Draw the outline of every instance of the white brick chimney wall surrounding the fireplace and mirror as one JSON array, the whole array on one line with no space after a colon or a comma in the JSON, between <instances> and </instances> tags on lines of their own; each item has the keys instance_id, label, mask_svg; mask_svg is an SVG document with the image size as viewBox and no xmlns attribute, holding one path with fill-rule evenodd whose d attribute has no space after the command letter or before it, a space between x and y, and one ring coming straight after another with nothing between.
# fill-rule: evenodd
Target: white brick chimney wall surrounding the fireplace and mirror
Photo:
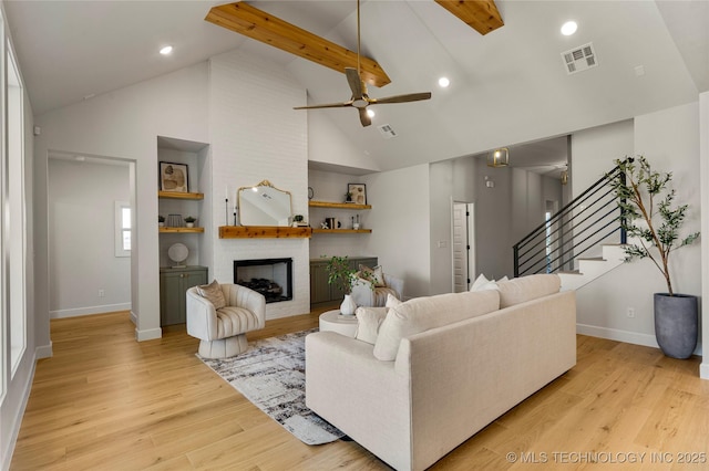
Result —
<instances>
[{"instance_id":1,"label":"white brick chimney wall surrounding the fireplace and mirror","mask_svg":"<svg viewBox=\"0 0 709 471\"><path fill-rule=\"evenodd\" d=\"M209 60L213 231L224 224L226 193L269 180L308 213L307 114L301 86L277 65L242 52ZM292 258L294 299L266 306L266 318L310 311L308 239L214 238L213 276L234 280L234 260Z\"/></svg>"}]
</instances>

